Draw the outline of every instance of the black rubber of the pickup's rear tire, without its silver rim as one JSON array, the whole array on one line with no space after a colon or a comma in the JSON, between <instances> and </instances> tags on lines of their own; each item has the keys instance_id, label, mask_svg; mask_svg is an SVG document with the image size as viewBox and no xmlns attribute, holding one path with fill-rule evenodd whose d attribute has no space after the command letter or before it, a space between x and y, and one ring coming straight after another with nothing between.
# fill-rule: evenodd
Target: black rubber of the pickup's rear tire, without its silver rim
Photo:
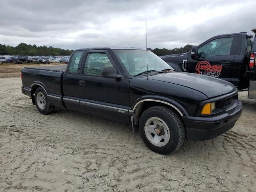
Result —
<instances>
[{"instance_id":1,"label":"black rubber of the pickup's rear tire, without its silver rim","mask_svg":"<svg viewBox=\"0 0 256 192\"><path fill-rule=\"evenodd\" d=\"M40 106L38 106L38 102L39 102L39 101L37 101L37 95L38 94L42 94L44 96L44 98L45 98L45 106L44 106L44 108L42 108L42 107L40 108ZM35 103L36 103L37 110L40 113L44 114L44 115L48 115L48 114L52 113L54 111L54 109L55 109L54 106L50 105L48 97L47 97L47 94L46 94L46 92L44 91L44 89L42 87L39 87L39 88L36 89L36 92L35 92Z\"/></svg>"}]
</instances>

